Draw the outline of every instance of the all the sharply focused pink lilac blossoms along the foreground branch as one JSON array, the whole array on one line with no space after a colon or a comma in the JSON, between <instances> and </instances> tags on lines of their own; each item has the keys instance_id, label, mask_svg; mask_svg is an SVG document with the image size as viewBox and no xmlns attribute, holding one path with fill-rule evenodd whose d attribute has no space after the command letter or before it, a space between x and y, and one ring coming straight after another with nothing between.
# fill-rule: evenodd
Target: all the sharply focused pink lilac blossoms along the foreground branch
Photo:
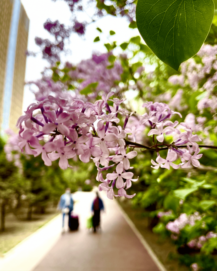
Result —
<instances>
[{"instance_id":1,"label":"all the sharply focused pink lilac blossoms along the foreground branch","mask_svg":"<svg viewBox=\"0 0 217 271\"><path fill-rule=\"evenodd\" d=\"M133 173L128 171L132 169L129 159L134 158L137 152L129 151L127 146L156 150L157 163L151 160L154 169L170 169L170 166L177 169L179 166L187 167L190 163L199 166L198 159L202 154L198 155L199 147L195 142L200 141L198 135L192 135L192 128L184 122L180 123L184 127L184 132L181 133L177 128L178 121L173 123L168 120L173 114L181 117L178 112L172 111L163 103L147 102L143 107L149 112L138 117L135 112L129 112L125 107L121 108L125 99L111 99L113 95L114 92L109 92L107 96L104 93L102 99L94 103L84 101L76 95L74 98L70 96L70 99L48 95L37 104L29 105L25 115L17 122L20 128L18 146L22 150L25 147L27 154L41 154L47 166L59 159L62 169L71 167L68 163L70 158L76 159L78 156L84 163L89 162L90 158L93 159L98 170L96 179L102 182L99 189L105 190L110 199L113 199L113 196L132 198L135 195L127 195L125 190L131 187L132 181L137 180L132 179ZM108 101L113 102L113 106L108 105ZM132 122L127 127L130 117ZM136 118L137 122L134 121ZM123 120L122 126L118 125L120 119ZM156 135L157 140L150 147L135 142L139 138L137 132L141 137L147 126L152 128L148 135L153 136L153 142ZM128 141L127 133L131 133L134 142ZM164 143L164 136L171 133L173 138L177 139L171 144ZM159 155L162 146L168 149L166 159ZM187 147L187 150L180 149L181 147ZM179 157L182 163L174 164ZM113 167L113 173L107 173L104 179L102 172ZM117 195L114 193L114 186L118 189Z\"/></svg>"}]
</instances>

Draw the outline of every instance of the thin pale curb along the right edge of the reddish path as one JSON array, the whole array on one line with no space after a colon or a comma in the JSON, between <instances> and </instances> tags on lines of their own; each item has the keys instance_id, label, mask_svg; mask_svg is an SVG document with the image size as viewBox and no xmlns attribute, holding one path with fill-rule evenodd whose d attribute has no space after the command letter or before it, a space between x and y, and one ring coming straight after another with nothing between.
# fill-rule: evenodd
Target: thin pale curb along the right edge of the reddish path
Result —
<instances>
[{"instance_id":1,"label":"thin pale curb along the right edge of the reddish path","mask_svg":"<svg viewBox=\"0 0 217 271\"><path fill-rule=\"evenodd\" d=\"M133 230L133 232L136 234L136 236L139 238L140 242L143 244L144 248L147 250L147 253L150 255L152 260L156 263L157 267L160 271L167 271L166 267L162 264L162 262L158 259L157 255L154 253L154 251L151 249L147 241L144 239L142 234L139 232L139 230L136 228L133 221L129 218L127 213L124 211L124 209L120 206L117 200L115 200L121 214L123 215L124 219L126 220L127 224L130 226L130 228Z\"/></svg>"}]
</instances>

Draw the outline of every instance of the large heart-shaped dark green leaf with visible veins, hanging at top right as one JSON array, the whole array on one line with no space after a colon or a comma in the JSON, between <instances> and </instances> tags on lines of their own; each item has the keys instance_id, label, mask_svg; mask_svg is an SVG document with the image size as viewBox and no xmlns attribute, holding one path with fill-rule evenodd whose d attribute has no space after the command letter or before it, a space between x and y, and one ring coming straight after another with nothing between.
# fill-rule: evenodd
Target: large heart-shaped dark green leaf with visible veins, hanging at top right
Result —
<instances>
[{"instance_id":1,"label":"large heart-shaped dark green leaf with visible veins, hanging at top right","mask_svg":"<svg viewBox=\"0 0 217 271\"><path fill-rule=\"evenodd\" d=\"M213 16L213 0L138 0L136 7L147 46L175 70L200 50Z\"/></svg>"}]
</instances>

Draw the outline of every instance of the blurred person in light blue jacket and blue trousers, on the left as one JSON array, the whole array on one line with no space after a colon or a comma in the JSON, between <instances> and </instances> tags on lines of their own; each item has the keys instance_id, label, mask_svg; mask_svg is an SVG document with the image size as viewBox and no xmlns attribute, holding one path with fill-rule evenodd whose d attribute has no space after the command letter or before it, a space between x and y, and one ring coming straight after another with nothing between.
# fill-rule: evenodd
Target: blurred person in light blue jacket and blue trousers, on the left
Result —
<instances>
[{"instance_id":1,"label":"blurred person in light blue jacket and blue trousers, on the left","mask_svg":"<svg viewBox=\"0 0 217 271\"><path fill-rule=\"evenodd\" d=\"M58 204L58 208L61 209L62 214L63 214L63 222L62 222L62 232L64 232L64 219L65 219L65 214L68 214L69 220L70 220L70 215L73 210L73 198L71 194L71 189L66 188L65 193L61 195L60 201Z\"/></svg>"}]
</instances>

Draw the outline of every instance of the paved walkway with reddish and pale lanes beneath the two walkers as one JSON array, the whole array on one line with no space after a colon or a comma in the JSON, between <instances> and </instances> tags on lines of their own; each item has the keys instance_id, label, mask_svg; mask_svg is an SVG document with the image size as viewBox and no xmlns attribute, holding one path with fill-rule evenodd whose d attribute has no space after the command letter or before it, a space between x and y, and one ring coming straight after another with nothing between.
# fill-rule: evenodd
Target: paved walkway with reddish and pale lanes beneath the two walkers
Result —
<instances>
[{"instance_id":1,"label":"paved walkway with reddish and pale lanes beneath the two walkers","mask_svg":"<svg viewBox=\"0 0 217 271\"><path fill-rule=\"evenodd\" d=\"M76 192L74 213L79 230L61 235L61 215L31 235L0 260L0 270L154 271L165 270L127 223L116 201L100 193L105 205L101 233L86 229L95 193ZM126 216L126 215L125 215ZM65 221L67 224L67 221ZM67 226L67 225L66 225ZM145 241L144 241L145 242ZM144 243L143 242L143 243Z\"/></svg>"}]
</instances>

